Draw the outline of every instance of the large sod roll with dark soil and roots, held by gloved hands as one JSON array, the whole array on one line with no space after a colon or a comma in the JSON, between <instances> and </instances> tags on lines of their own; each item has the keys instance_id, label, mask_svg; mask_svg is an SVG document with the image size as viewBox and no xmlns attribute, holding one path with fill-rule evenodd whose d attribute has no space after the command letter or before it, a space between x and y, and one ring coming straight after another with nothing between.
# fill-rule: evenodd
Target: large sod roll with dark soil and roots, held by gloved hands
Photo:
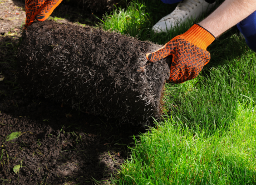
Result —
<instances>
[{"instance_id":1,"label":"large sod roll with dark soil and roots, held by gloved hands","mask_svg":"<svg viewBox=\"0 0 256 185\"><path fill-rule=\"evenodd\" d=\"M25 93L44 96L119 122L160 119L169 59L145 54L161 45L101 29L35 22L23 32L17 79Z\"/></svg>"}]
</instances>

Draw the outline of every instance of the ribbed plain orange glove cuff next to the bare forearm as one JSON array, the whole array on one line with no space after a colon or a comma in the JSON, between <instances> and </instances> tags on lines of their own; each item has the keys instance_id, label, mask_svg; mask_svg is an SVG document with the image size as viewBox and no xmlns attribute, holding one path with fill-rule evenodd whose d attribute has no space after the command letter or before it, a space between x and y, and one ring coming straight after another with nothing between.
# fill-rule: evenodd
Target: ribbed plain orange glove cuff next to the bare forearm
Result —
<instances>
[{"instance_id":1,"label":"ribbed plain orange glove cuff next to the bare forearm","mask_svg":"<svg viewBox=\"0 0 256 185\"><path fill-rule=\"evenodd\" d=\"M215 40L214 35L199 24L194 24L193 27L184 34L179 35L179 37L204 50Z\"/></svg>"}]
</instances>

